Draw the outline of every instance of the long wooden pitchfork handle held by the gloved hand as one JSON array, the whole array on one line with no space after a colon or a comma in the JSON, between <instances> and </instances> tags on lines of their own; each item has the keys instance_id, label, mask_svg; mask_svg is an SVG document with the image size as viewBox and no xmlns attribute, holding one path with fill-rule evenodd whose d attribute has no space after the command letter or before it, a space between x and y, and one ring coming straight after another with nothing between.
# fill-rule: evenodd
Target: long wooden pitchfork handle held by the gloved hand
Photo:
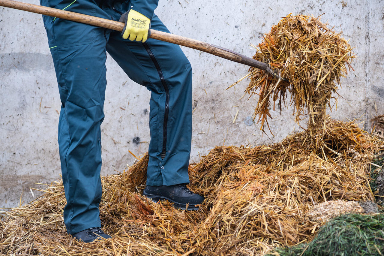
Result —
<instances>
[{"instance_id":1,"label":"long wooden pitchfork handle held by the gloved hand","mask_svg":"<svg viewBox=\"0 0 384 256\"><path fill-rule=\"evenodd\" d=\"M122 32L125 25L122 22L117 22L114 20L108 20L108 19L94 17L94 16L85 15L81 13L69 12L65 10L45 7L41 5L34 5L31 3L23 3L23 2L18 2L14 0L0 0L0 6L14 8L18 10L27 11L27 12L40 13L43 15L51 16L51 17L57 17L65 20L72 20L75 22L86 23L89 25L109 28L112 30L120 31L120 32ZM264 70L270 73L273 77L277 79L280 78L280 74L273 71L267 63L259 62L247 56L241 55L240 53L236 53L216 45L211 45L210 43L204 43L199 40L194 40L191 38L182 37L179 35L174 35L174 34L153 30L153 29L151 29L150 38L154 38L154 39L169 42L169 43L175 43L177 45L193 48L202 52L207 52L207 53L216 55L218 57L225 58L227 60L232 60L233 62L242 63L248 66L252 66L254 68Z\"/></svg>"}]
</instances>

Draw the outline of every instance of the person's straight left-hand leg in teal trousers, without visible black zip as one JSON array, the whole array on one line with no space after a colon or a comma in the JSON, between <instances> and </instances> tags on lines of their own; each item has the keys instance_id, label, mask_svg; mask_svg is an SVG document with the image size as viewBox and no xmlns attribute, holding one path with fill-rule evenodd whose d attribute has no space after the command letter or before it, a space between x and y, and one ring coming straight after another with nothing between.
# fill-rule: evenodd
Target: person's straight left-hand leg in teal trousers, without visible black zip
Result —
<instances>
[{"instance_id":1,"label":"person's straight left-hand leg in teal trousers, without visible black zip","mask_svg":"<svg viewBox=\"0 0 384 256\"><path fill-rule=\"evenodd\" d=\"M95 15L94 2L41 0L42 5ZM72 3L72 4L71 4ZM58 143L68 233L100 227L101 132L106 87L103 28L43 16L58 80Z\"/></svg>"}]
</instances>

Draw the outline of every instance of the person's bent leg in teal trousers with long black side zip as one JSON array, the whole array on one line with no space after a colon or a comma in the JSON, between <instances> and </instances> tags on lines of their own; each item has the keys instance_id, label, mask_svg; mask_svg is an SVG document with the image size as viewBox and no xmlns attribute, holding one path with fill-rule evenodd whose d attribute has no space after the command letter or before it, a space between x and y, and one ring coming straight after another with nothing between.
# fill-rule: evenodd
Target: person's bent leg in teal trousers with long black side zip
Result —
<instances>
[{"instance_id":1,"label":"person's bent leg in teal trousers with long black side zip","mask_svg":"<svg viewBox=\"0 0 384 256\"><path fill-rule=\"evenodd\" d=\"M114 7L124 9L120 4ZM152 18L152 28L169 32L156 15ZM189 183L192 133L189 61L178 45L151 38L145 43L132 42L124 40L119 32L111 33L107 51L132 80L151 91L147 185Z\"/></svg>"}]
</instances>

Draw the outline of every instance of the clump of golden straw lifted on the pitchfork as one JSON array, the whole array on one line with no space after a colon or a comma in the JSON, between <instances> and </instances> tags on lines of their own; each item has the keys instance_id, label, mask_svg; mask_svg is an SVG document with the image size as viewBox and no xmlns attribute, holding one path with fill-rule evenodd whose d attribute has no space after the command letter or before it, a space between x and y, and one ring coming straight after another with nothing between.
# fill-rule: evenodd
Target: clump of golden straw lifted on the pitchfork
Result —
<instances>
[{"instance_id":1,"label":"clump of golden straw lifted on the pitchfork","mask_svg":"<svg viewBox=\"0 0 384 256\"><path fill-rule=\"evenodd\" d=\"M264 131L265 124L268 126L271 101L273 110L278 99L283 108L288 92L295 107L296 122L302 115L309 115L311 131L323 127L326 108L331 107L332 93L338 88L335 83L340 84L340 77L347 74L346 66L352 68L350 62L354 58L351 46L341 33L320 22L319 17L288 15L264 34L262 43L255 48L255 60L270 63L281 78L288 80L250 68L251 81L245 91L259 98L253 119L258 116L260 130Z\"/></svg>"}]
</instances>

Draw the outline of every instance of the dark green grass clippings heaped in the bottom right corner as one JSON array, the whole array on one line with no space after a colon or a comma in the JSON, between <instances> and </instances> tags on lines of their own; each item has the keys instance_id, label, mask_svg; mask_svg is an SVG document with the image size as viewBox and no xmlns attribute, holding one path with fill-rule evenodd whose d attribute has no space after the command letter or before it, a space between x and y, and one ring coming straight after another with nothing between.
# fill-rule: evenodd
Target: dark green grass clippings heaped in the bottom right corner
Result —
<instances>
[{"instance_id":1,"label":"dark green grass clippings heaped in the bottom right corner","mask_svg":"<svg viewBox=\"0 0 384 256\"><path fill-rule=\"evenodd\" d=\"M339 216L322 226L310 243L276 248L266 255L384 255L384 214Z\"/></svg>"}]
</instances>

